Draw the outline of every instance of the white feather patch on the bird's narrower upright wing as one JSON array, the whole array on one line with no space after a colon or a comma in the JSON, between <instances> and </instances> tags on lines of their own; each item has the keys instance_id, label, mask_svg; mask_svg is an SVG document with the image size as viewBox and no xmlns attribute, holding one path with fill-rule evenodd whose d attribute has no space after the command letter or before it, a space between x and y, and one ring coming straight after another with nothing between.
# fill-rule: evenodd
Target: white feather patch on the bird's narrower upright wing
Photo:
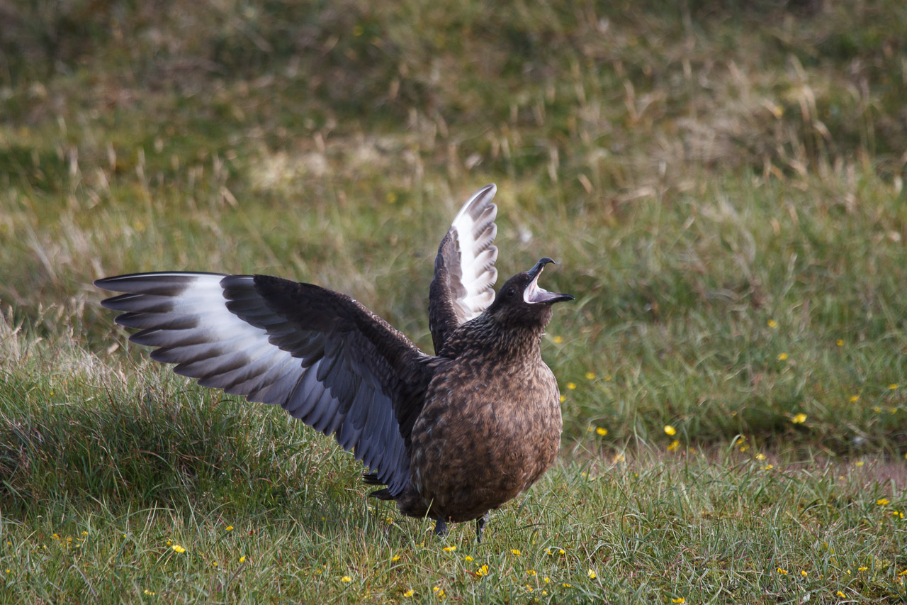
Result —
<instances>
[{"instance_id":1,"label":"white feather patch on the bird's narrower upright wing","mask_svg":"<svg viewBox=\"0 0 907 605\"><path fill-rule=\"evenodd\" d=\"M469 198L460 212L453 218L451 232L457 251L460 253L459 278L463 291L453 303L462 322L468 322L480 315L494 300L494 283L498 279L498 270L494 262L498 258L498 248L493 245L498 227L494 219L498 207L492 203L495 185L483 187ZM459 288L452 288L458 292Z\"/></svg>"}]
</instances>

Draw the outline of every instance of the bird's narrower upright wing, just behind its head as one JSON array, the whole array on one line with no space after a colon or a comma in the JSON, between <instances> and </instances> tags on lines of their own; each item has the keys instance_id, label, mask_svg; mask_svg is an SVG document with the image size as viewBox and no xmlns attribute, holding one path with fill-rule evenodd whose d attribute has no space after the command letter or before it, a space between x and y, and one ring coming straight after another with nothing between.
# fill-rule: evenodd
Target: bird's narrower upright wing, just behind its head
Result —
<instances>
[{"instance_id":1,"label":"bird's narrower upright wing, just behind its head","mask_svg":"<svg viewBox=\"0 0 907 605\"><path fill-rule=\"evenodd\" d=\"M494 300L498 248L492 203L497 187L485 185L463 204L438 246L434 280L429 291L428 323L434 351L441 351L447 335L463 322L481 314Z\"/></svg>"}]
</instances>

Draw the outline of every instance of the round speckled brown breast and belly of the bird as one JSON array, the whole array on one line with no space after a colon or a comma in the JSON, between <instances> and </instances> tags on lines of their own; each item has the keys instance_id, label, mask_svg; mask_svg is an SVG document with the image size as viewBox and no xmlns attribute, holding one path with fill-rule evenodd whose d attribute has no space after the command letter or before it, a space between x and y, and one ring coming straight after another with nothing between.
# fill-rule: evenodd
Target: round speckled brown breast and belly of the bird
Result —
<instances>
[{"instance_id":1,"label":"round speckled brown breast and belly of the bird","mask_svg":"<svg viewBox=\"0 0 907 605\"><path fill-rule=\"evenodd\" d=\"M541 359L493 374L452 362L435 375L426 401L413 429L410 476L430 517L477 519L529 488L557 456L560 396Z\"/></svg>"}]
</instances>

